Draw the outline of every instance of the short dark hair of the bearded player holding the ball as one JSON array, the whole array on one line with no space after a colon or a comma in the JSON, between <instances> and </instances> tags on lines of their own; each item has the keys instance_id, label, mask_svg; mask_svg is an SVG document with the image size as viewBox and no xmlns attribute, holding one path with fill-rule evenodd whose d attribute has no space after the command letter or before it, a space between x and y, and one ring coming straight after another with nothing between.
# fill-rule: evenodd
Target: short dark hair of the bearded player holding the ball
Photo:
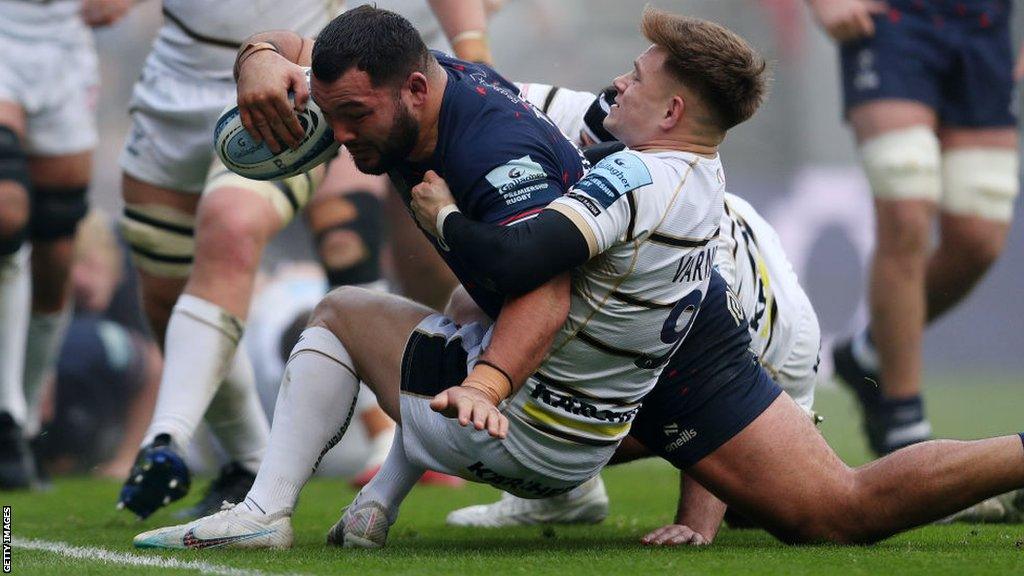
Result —
<instances>
[{"instance_id":1,"label":"short dark hair of the bearded player holding the ball","mask_svg":"<svg viewBox=\"0 0 1024 576\"><path fill-rule=\"evenodd\" d=\"M402 82L426 72L430 52L413 25L400 15L369 4L331 20L313 43L312 72L334 82L353 66L375 86Z\"/></svg>"}]
</instances>

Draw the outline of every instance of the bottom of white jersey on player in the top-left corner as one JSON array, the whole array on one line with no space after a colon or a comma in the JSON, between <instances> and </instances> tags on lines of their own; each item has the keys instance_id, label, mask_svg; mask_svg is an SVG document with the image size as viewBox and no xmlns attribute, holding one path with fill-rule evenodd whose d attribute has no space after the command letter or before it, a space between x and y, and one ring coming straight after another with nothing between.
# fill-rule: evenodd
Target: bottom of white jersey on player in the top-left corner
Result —
<instances>
[{"instance_id":1,"label":"bottom of white jersey on player in the top-left corner","mask_svg":"<svg viewBox=\"0 0 1024 576\"><path fill-rule=\"evenodd\" d=\"M81 9L80 0L0 0L0 36L77 43L89 34Z\"/></svg>"}]
</instances>

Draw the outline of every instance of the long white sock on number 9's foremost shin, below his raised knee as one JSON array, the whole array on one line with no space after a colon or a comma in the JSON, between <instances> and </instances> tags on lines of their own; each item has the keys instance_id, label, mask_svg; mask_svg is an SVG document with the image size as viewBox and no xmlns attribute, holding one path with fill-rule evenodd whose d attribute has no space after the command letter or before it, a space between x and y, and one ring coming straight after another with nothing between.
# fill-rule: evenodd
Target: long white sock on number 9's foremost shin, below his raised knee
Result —
<instances>
[{"instance_id":1,"label":"long white sock on number 9's foremost shin, below his raised knee","mask_svg":"<svg viewBox=\"0 0 1024 576\"><path fill-rule=\"evenodd\" d=\"M302 331L285 366L266 456L245 500L250 509L295 507L299 491L352 420L359 393L353 366L330 330Z\"/></svg>"}]
</instances>

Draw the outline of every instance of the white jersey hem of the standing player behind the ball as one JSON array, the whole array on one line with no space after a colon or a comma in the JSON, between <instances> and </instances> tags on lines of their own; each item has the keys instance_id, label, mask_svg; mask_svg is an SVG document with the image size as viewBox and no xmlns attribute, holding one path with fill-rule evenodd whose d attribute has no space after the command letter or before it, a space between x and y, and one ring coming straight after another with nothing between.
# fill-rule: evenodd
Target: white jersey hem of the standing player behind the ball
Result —
<instances>
[{"instance_id":1,"label":"white jersey hem of the standing player behind the ball","mask_svg":"<svg viewBox=\"0 0 1024 576\"><path fill-rule=\"evenodd\" d=\"M342 11L341 0L164 0L164 26L147 66L193 78L230 80L242 42L257 32L314 37Z\"/></svg>"}]
</instances>

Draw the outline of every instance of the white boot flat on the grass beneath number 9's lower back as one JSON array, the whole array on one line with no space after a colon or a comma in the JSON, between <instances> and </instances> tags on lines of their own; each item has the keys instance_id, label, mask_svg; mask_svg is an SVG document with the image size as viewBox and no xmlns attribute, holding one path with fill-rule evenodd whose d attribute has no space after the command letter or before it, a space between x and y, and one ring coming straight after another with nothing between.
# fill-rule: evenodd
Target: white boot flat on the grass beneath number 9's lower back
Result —
<instances>
[{"instance_id":1,"label":"white boot flat on the grass beneath number 9's lower back","mask_svg":"<svg viewBox=\"0 0 1024 576\"><path fill-rule=\"evenodd\" d=\"M528 500L511 494L493 504L460 508L447 516L452 526L497 528L535 524L599 524L608 517L608 493L596 476L572 490L551 498Z\"/></svg>"}]
</instances>

